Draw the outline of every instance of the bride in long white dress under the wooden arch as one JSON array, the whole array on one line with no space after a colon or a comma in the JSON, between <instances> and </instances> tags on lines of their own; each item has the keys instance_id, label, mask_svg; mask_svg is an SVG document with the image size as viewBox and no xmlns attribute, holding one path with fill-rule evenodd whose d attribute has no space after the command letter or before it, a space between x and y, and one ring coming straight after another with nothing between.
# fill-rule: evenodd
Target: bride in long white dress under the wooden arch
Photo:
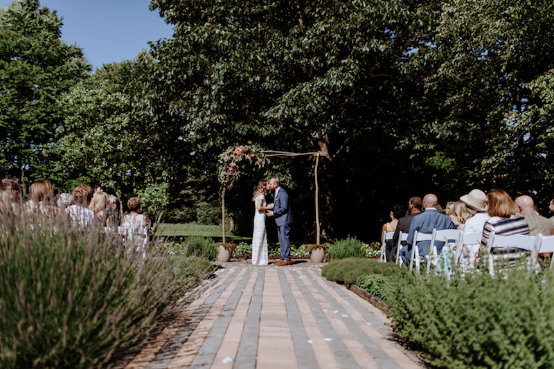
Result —
<instances>
[{"instance_id":1,"label":"bride in long white dress under the wooden arch","mask_svg":"<svg viewBox=\"0 0 554 369\"><path fill-rule=\"evenodd\" d=\"M252 233L252 265L267 265L267 231L265 230L265 210L274 208L274 204L265 202L265 192L268 190L267 181L258 182L258 189L254 192L254 231Z\"/></svg>"}]
</instances>

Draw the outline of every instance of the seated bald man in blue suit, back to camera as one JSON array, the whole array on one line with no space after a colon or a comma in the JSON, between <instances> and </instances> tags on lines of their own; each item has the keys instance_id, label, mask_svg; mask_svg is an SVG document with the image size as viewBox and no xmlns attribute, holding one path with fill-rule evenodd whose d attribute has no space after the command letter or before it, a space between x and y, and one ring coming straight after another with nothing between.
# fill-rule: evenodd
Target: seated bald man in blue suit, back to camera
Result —
<instances>
[{"instance_id":1,"label":"seated bald man in blue suit, back to camera","mask_svg":"<svg viewBox=\"0 0 554 369\"><path fill-rule=\"evenodd\" d=\"M452 219L443 213L439 213L436 209L438 199L436 195L429 193L423 198L423 213L414 217L410 224L410 231L408 233L408 240L406 240L406 246L400 250L400 257L404 264L408 264L408 259L411 256L411 249L415 242L413 240L415 231L418 233L432 233L434 229L440 231L442 229L456 229L458 226L452 222ZM430 241L419 241L418 248L420 250L420 258L425 258L429 255ZM438 253L443 249L444 242L436 242Z\"/></svg>"}]
</instances>

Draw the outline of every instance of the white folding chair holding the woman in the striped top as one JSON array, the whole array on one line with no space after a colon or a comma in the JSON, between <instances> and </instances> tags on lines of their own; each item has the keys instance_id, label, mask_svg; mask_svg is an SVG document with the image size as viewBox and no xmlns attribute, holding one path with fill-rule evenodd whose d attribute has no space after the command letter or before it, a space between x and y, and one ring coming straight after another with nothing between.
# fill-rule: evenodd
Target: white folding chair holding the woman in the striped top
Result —
<instances>
[{"instance_id":1,"label":"white folding chair holding the woman in the striped top","mask_svg":"<svg viewBox=\"0 0 554 369\"><path fill-rule=\"evenodd\" d=\"M540 240L540 238L538 239ZM492 253L492 249L500 251L500 253ZM535 270L537 267L537 259L539 256L539 244L537 237L526 235L496 235L491 232L487 242L489 273L494 276L494 263L499 260L507 261L510 266L515 264L515 260L526 256L524 251L530 251L531 256L528 263L529 271Z\"/></svg>"}]
</instances>

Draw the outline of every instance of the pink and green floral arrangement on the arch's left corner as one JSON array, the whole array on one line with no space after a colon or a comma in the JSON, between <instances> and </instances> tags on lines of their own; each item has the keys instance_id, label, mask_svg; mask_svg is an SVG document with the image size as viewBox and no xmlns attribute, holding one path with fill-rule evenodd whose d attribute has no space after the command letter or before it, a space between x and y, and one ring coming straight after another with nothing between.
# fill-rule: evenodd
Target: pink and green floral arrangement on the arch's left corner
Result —
<instances>
[{"instance_id":1,"label":"pink and green floral arrangement on the arch's left corner","mask_svg":"<svg viewBox=\"0 0 554 369\"><path fill-rule=\"evenodd\" d=\"M242 175L244 165L256 165L263 168L268 159L255 145L230 146L218 157L217 178L222 188L231 188Z\"/></svg>"}]
</instances>

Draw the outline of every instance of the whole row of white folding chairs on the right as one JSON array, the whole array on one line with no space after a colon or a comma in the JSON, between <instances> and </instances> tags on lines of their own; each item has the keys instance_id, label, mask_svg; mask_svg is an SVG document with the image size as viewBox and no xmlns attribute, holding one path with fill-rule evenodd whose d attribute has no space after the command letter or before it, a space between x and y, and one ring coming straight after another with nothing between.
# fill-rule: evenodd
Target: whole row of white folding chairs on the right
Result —
<instances>
[{"instance_id":1,"label":"whole row of white folding chairs on the right","mask_svg":"<svg viewBox=\"0 0 554 369\"><path fill-rule=\"evenodd\" d=\"M382 248L381 248L381 261L386 262L386 241L392 240L394 233L387 232L383 236ZM459 264L463 260L463 249L468 246L475 244L481 244L482 233L466 233L463 234L463 231L458 231L454 229L445 229L437 231L433 230L433 233L418 233L415 231L413 235L413 244L414 246L411 249L411 258L409 260L409 269L413 269L413 264L415 263L415 270L420 273L420 262L423 261L420 258L419 247L417 242L420 241L429 241L429 255L425 258L427 261L427 275L429 275L431 264L435 264L438 260L438 251L435 245L435 242L445 242L454 241L456 245L461 245L461 247L456 246L456 253L454 254L454 264ZM400 232L397 242L396 250L396 263L402 265L402 260L400 259L400 249L402 248L402 241L405 241L408 238L408 233ZM431 246L432 245L432 246ZM513 253L501 253L501 254L491 254L490 251L492 248L498 249L507 246L516 246L517 249L524 251L530 251L530 269L536 269L538 264L538 255L553 253L554 252L554 235L553 236L526 236L526 235L495 235L492 232L489 236L487 243L487 255L490 255L488 258L489 271L494 275L494 263L499 259L513 259L515 255ZM474 249L470 249L470 253L474 252ZM550 265L551 269L554 267L554 258Z\"/></svg>"}]
</instances>

